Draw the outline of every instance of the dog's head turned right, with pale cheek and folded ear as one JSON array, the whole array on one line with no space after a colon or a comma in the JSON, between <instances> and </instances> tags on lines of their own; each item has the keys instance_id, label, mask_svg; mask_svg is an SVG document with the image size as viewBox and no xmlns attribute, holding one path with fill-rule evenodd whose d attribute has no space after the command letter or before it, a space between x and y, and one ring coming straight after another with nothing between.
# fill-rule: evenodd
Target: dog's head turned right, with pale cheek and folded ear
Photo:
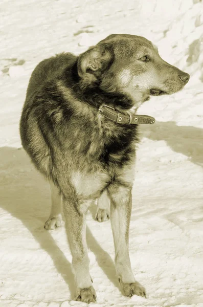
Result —
<instances>
[{"instance_id":1,"label":"dog's head turned right, with pale cheek and folded ear","mask_svg":"<svg viewBox=\"0 0 203 307\"><path fill-rule=\"evenodd\" d=\"M128 34L111 34L81 54L78 74L90 86L129 93L137 102L178 92L190 78L165 62L149 40Z\"/></svg>"}]
</instances>

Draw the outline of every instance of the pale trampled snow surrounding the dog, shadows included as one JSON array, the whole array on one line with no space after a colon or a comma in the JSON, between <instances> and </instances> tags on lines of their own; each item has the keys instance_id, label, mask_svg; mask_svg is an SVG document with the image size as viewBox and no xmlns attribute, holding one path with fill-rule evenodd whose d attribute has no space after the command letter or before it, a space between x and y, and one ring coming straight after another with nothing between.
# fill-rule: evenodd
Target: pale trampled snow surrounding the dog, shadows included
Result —
<instances>
[{"instance_id":1,"label":"pale trampled snow surrounding the dog, shadows included","mask_svg":"<svg viewBox=\"0 0 203 307\"><path fill-rule=\"evenodd\" d=\"M18 123L31 72L43 58L79 54L110 33L142 35L191 75L182 92L153 97L142 125L130 224L130 258L148 298L123 297L110 222L87 215L96 307L203 306L203 4L198 0L117 2L3 0L0 11L0 305L86 306L73 301L64 223L43 229L47 182L21 148Z\"/></svg>"}]
</instances>

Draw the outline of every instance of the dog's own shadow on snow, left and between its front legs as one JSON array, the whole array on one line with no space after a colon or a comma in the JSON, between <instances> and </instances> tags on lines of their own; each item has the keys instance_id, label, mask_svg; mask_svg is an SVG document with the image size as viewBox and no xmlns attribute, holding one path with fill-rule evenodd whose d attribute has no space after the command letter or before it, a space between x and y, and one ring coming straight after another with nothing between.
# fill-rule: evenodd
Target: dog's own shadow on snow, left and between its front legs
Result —
<instances>
[{"instance_id":1,"label":"dog's own shadow on snow, left and between its front legs","mask_svg":"<svg viewBox=\"0 0 203 307\"><path fill-rule=\"evenodd\" d=\"M29 157L22 148L1 147L0 164L0 174L3 183L0 186L0 206L20 220L32 233L40 247L51 256L55 268L69 287L70 295L67 293L67 296L69 296L67 299L73 299L75 282L71 263L67 260L63 251L57 246L51 233L43 228L51 210L49 184L35 170ZM60 228L57 231L60 231ZM111 257L98 244L88 227L86 237L88 248L95 254L98 265L109 280L118 287L119 283L116 278L116 269ZM64 240L64 235L62 238ZM65 237L66 245L68 248ZM94 279L94 276L92 277Z\"/></svg>"}]
</instances>

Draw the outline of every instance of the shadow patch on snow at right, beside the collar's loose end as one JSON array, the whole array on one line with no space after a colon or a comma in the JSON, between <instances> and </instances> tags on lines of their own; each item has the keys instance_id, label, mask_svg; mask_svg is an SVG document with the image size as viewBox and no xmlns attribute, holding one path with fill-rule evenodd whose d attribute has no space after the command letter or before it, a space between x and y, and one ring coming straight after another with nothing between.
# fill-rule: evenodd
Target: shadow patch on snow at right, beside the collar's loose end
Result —
<instances>
[{"instance_id":1,"label":"shadow patch on snow at right, beside the collar's loose end","mask_svg":"<svg viewBox=\"0 0 203 307\"><path fill-rule=\"evenodd\" d=\"M164 140L173 151L182 153L189 161L203 166L203 129L177 126L175 122L168 121L140 125L140 131L141 137L154 141Z\"/></svg>"}]
</instances>

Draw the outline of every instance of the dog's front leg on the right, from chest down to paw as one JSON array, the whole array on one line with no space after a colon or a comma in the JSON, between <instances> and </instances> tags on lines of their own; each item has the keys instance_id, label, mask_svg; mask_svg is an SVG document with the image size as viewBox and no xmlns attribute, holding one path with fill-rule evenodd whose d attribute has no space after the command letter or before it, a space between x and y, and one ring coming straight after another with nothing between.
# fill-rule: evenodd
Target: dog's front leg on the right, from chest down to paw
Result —
<instances>
[{"instance_id":1,"label":"dog's front leg on the right, from chest down to paw","mask_svg":"<svg viewBox=\"0 0 203 307\"><path fill-rule=\"evenodd\" d=\"M114 236L115 264L121 290L125 296L137 294L146 297L144 287L134 279L128 251L132 207L131 187L111 185L108 193L111 203L110 221Z\"/></svg>"}]
</instances>

